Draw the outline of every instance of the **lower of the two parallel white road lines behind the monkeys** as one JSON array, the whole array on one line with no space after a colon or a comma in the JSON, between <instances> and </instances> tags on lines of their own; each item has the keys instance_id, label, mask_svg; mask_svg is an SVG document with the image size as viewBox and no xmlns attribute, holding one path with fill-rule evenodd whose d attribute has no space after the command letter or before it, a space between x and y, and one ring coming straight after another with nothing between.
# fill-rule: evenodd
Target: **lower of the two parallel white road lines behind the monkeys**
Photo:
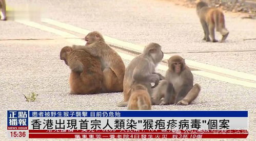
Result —
<instances>
[{"instance_id":1,"label":"lower of the two parallel white road lines behind the monkeys","mask_svg":"<svg viewBox=\"0 0 256 141\"><path fill-rule=\"evenodd\" d=\"M36 23L36 22L32 22L32 21L25 21L25 20L16 20L16 22L22 23L24 25L33 27L33 28L37 28L43 31L47 31L47 32L51 32L57 35L60 35L62 37L68 38L68 37L72 37L72 38L77 38L77 36L61 31L61 30L57 30L54 28L50 28L44 25L41 25L40 23ZM70 43L73 44L78 44L78 45L84 45L85 42L83 40L80 39L65 39ZM124 54L121 52L117 52L123 59L125 60L132 60L134 58L134 56L128 55L128 54ZM164 65L158 65L157 68L166 71L168 69L167 66ZM199 70L194 70L192 71L193 74L197 74L197 75L201 75L204 77L208 77L208 78L212 78L212 79L216 79L216 80L220 80L220 81L224 81L224 82L228 82L228 83L233 83L233 84L238 84L238 85L242 85L242 86L247 86L247 87L254 87L256 88L256 84L255 83L251 83L251 82L246 82L246 81L241 81L241 80L236 80L233 78L228 78L228 77L223 77L220 75L216 75L216 74L212 74L212 73L207 73L204 71L199 71Z\"/></svg>"}]
</instances>

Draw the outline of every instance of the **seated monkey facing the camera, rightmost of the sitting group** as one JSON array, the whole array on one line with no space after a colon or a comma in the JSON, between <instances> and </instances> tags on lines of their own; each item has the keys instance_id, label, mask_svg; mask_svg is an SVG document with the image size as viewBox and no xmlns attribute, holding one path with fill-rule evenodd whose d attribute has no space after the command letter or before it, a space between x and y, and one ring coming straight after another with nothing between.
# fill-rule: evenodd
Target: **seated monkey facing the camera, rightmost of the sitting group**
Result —
<instances>
[{"instance_id":1,"label":"seated monkey facing the camera, rightmost of the sitting group","mask_svg":"<svg viewBox=\"0 0 256 141\"><path fill-rule=\"evenodd\" d=\"M156 105L190 104L198 97L200 85L193 86L193 75L182 57L178 55L170 57L168 67L166 80L162 80L153 92L152 103Z\"/></svg>"}]
</instances>

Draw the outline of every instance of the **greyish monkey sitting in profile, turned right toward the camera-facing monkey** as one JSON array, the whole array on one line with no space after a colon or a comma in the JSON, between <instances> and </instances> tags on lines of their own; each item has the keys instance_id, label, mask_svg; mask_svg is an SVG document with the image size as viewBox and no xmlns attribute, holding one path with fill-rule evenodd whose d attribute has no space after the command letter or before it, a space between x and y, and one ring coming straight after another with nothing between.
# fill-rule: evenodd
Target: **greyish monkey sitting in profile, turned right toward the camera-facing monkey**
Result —
<instances>
[{"instance_id":1,"label":"greyish monkey sitting in profile, turned right toward the camera-facing monkey","mask_svg":"<svg viewBox=\"0 0 256 141\"><path fill-rule=\"evenodd\" d=\"M149 95L152 95L152 88L158 85L160 77L162 77L162 75L155 73L155 67L164 57L161 48L157 43L149 43L145 46L143 53L130 62L125 69L124 100L117 106L127 106L131 96L131 87L134 83L144 85L147 87ZM151 83L154 83L154 86L151 86Z\"/></svg>"}]
</instances>

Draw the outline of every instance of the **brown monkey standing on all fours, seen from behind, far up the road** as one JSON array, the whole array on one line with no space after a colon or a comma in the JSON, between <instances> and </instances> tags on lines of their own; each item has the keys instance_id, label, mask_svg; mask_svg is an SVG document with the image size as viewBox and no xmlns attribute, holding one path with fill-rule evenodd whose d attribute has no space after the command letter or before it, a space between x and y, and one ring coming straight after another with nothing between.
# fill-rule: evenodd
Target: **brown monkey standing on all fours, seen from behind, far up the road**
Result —
<instances>
[{"instance_id":1,"label":"brown monkey standing on all fours, seen from behind, far up the road","mask_svg":"<svg viewBox=\"0 0 256 141\"><path fill-rule=\"evenodd\" d=\"M222 35L221 42L227 38L229 31L225 28L225 18L223 12L218 8L210 8L207 3L199 2L196 4L196 13L200 18L201 25L204 30L203 40L210 41L209 34L212 42L217 42L215 39L214 29Z\"/></svg>"}]
</instances>

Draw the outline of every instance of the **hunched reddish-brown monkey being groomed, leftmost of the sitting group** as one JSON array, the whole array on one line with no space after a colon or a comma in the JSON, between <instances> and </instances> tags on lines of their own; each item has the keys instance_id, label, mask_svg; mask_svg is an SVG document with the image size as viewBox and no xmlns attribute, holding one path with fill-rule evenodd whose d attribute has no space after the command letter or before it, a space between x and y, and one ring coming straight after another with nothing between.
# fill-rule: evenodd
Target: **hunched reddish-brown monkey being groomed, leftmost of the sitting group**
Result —
<instances>
[{"instance_id":1,"label":"hunched reddish-brown monkey being groomed, leftmost of the sitting group","mask_svg":"<svg viewBox=\"0 0 256 141\"><path fill-rule=\"evenodd\" d=\"M73 50L70 46L62 48L60 57L71 69L71 94L93 94L102 91L103 73L99 59L84 50Z\"/></svg>"}]
</instances>

